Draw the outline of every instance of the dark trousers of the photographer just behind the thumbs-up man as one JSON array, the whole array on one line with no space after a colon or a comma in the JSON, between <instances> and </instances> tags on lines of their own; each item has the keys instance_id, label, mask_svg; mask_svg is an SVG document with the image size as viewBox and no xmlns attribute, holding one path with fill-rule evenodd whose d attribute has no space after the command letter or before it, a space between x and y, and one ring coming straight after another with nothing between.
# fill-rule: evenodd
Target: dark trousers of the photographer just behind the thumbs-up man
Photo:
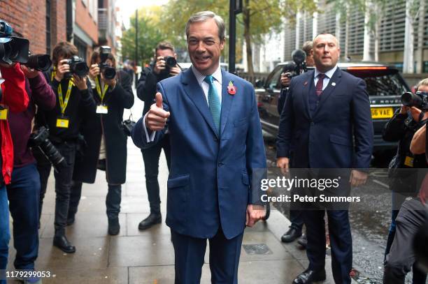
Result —
<instances>
[{"instance_id":1,"label":"dark trousers of the photographer just behind the thumbs-up man","mask_svg":"<svg viewBox=\"0 0 428 284\"><path fill-rule=\"evenodd\" d=\"M151 213L160 213L159 182L157 181L157 175L159 174L159 157L162 149L164 149L166 165L168 165L169 170L169 167L171 167L169 134L166 134L155 146L149 149L141 149L145 169L145 187L147 188Z\"/></svg>"}]
</instances>

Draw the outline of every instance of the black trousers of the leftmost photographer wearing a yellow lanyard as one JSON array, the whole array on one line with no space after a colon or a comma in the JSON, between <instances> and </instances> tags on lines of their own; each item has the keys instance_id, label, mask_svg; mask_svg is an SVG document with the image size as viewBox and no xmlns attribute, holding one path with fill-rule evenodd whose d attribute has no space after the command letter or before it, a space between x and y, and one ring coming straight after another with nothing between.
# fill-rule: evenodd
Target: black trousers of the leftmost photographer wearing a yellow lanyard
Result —
<instances>
[{"instance_id":1,"label":"black trousers of the leftmost photographer wearing a yellow lanyard","mask_svg":"<svg viewBox=\"0 0 428 284\"><path fill-rule=\"evenodd\" d=\"M64 156L66 160L66 166L62 167L59 172L55 170L55 235L65 234L65 227L67 223L67 216L69 214L69 202L71 193L71 184L73 177L73 167L76 158L76 142L63 142L61 144L55 144L59 153ZM41 206L43 204L43 197L46 193L46 185L48 184L48 178L50 173L51 165L47 163L41 163L37 165L37 169L40 172L41 179Z\"/></svg>"}]
</instances>

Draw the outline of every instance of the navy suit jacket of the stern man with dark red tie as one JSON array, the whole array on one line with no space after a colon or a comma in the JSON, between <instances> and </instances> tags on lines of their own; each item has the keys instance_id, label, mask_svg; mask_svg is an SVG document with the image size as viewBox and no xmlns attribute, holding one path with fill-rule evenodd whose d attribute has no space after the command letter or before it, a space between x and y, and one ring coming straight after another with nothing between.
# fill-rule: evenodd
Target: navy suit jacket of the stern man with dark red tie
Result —
<instances>
[{"instance_id":1,"label":"navy suit jacket of the stern man with dark red tie","mask_svg":"<svg viewBox=\"0 0 428 284\"><path fill-rule=\"evenodd\" d=\"M312 115L308 98L315 94L314 73L290 82L277 156L291 158L292 167L369 168L373 122L364 80L337 68Z\"/></svg>"}]
</instances>

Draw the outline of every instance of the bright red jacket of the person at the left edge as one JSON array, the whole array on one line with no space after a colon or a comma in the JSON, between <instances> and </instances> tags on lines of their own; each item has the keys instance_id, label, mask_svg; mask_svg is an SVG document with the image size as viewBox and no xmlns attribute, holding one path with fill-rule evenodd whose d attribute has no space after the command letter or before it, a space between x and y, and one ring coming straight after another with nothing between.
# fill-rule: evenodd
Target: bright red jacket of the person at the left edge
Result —
<instances>
[{"instance_id":1,"label":"bright red jacket of the person at the left edge","mask_svg":"<svg viewBox=\"0 0 428 284\"><path fill-rule=\"evenodd\" d=\"M27 110L29 98L25 91L25 76L17 63L11 68L0 67L1 77L5 80L1 84L1 104L6 105L10 112ZM13 170L13 143L10 136L7 120L0 120L1 133L1 174L5 184L10 184Z\"/></svg>"}]
</instances>

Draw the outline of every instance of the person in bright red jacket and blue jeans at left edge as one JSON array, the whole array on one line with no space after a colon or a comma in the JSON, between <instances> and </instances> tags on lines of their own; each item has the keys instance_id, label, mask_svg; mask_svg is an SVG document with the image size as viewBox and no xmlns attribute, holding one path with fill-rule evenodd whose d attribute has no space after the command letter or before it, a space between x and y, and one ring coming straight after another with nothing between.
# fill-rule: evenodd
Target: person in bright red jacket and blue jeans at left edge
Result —
<instances>
[{"instance_id":1,"label":"person in bright red jacket and blue jeans at left edge","mask_svg":"<svg viewBox=\"0 0 428 284\"><path fill-rule=\"evenodd\" d=\"M4 82L3 82L4 80ZM8 112L23 112L28 106L27 91L25 91L25 77L20 64L10 66L0 63L0 270L6 269L8 264L9 210L6 184L10 184L13 171L13 142L8 124ZM2 274L0 274L2 276ZM6 284L6 280L0 280Z\"/></svg>"}]
</instances>

